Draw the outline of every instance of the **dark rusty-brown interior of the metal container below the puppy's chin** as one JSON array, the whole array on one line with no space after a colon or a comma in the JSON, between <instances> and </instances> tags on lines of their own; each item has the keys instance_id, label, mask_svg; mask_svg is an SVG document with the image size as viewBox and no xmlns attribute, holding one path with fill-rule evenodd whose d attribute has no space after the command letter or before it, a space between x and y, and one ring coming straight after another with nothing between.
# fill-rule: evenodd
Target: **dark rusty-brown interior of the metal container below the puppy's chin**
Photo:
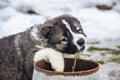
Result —
<instances>
[{"instance_id":1,"label":"dark rusty-brown interior of the metal container below the puppy's chin","mask_svg":"<svg viewBox=\"0 0 120 80\"><path fill-rule=\"evenodd\" d=\"M72 66L74 64L74 59L71 58L65 58L65 69L64 72L72 72ZM35 67L39 70L48 70L48 71L54 71L51 68L51 64L48 62L45 62L44 60L40 60L37 63L35 63ZM87 71L92 69L98 69L99 65L90 60L83 60L83 59L77 59L75 72L81 72L81 71Z\"/></svg>"}]
</instances>

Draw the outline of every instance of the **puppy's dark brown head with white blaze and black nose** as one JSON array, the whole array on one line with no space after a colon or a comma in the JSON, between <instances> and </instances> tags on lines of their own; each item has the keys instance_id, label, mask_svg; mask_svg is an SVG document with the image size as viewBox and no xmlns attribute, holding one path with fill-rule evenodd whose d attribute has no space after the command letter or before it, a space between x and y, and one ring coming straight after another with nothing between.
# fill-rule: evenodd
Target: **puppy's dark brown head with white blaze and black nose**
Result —
<instances>
[{"instance_id":1,"label":"puppy's dark brown head with white blaze and black nose","mask_svg":"<svg viewBox=\"0 0 120 80\"><path fill-rule=\"evenodd\" d=\"M86 35L76 18L62 15L46 21L43 26L41 34L47 39L47 47L70 54L85 50Z\"/></svg>"}]
</instances>

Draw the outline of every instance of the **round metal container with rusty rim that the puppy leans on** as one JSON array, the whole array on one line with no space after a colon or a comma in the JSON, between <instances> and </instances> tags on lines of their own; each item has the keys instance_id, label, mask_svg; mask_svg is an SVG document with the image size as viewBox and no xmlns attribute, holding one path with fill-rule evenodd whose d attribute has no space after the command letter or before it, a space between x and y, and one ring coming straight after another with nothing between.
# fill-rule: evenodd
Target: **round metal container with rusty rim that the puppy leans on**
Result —
<instances>
[{"instance_id":1,"label":"round metal container with rusty rim that the puppy leans on","mask_svg":"<svg viewBox=\"0 0 120 80\"><path fill-rule=\"evenodd\" d=\"M77 59L75 72L72 72L73 63L74 59L65 58L64 72L55 72L50 63L40 60L34 64L32 80L100 80L98 63Z\"/></svg>"}]
</instances>

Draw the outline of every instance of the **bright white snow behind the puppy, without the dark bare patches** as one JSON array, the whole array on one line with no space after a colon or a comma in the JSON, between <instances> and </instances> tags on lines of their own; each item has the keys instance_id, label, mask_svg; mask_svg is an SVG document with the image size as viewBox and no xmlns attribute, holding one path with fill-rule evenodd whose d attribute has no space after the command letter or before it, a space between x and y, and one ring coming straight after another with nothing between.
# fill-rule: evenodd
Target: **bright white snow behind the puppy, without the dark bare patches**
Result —
<instances>
[{"instance_id":1,"label":"bright white snow behind the puppy, without the dark bare patches","mask_svg":"<svg viewBox=\"0 0 120 80\"><path fill-rule=\"evenodd\" d=\"M112 5L115 2L117 5L113 10L101 11L95 7L97 4ZM119 3L118 0L1 0L0 37L24 31L46 19L71 14L81 21L88 40L96 39L96 36L97 40L119 39L120 13L116 11L120 10ZM39 15L26 14L28 10L34 10Z\"/></svg>"}]
</instances>

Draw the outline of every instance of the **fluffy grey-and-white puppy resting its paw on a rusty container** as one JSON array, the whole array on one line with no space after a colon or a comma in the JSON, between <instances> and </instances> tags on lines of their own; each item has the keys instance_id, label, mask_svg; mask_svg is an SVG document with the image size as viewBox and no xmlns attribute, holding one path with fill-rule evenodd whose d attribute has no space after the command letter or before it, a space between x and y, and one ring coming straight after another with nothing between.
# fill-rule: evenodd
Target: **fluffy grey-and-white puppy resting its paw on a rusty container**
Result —
<instances>
[{"instance_id":1,"label":"fluffy grey-and-white puppy resting its paw on a rusty container","mask_svg":"<svg viewBox=\"0 0 120 80\"><path fill-rule=\"evenodd\" d=\"M63 71L63 54L85 49L86 35L78 19L65 14L47 20L0 39L0 80L32 80L33 63L40 59Z\"/></svg>"}]
</instances>

